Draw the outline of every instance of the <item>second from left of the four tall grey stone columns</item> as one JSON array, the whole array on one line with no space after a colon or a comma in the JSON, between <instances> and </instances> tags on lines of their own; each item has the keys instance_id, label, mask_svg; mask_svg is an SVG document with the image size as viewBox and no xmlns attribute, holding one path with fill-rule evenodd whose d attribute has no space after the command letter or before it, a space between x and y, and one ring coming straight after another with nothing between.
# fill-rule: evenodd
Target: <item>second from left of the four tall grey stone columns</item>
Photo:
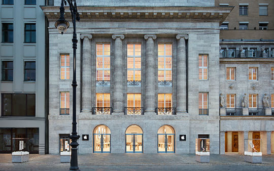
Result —
<instances>
[{"instance_id":1,"label":"second from left of the four tall grey stone columns","mask_svg":"<svg viewBox=\"0 0 274 171\"><path fill-rule=\"evenodd\" d=\"M123 113L123 34L113 34L114 41L114 72L113 72L113 113Z\"/></svg>"}]
</instances>

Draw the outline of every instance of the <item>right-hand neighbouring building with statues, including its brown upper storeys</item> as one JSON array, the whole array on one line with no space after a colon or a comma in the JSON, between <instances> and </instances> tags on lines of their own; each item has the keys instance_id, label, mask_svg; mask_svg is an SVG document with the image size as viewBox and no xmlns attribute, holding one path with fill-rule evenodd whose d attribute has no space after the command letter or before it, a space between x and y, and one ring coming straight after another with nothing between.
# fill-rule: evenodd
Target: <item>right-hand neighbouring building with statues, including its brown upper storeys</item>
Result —
<instances>
[{"instance_id":1,"label":"right-hand neighbouring building with statues, including its brown upper storeys","mask_svg":"<svg viewBox=\"0 0 274 171\"><path fill-rule=\"evenodd\" d=\"M274 2L216 0L234 6L220 26L220 153L244 154L244 139L274 153Z\"/></svg>"}]
</instances>

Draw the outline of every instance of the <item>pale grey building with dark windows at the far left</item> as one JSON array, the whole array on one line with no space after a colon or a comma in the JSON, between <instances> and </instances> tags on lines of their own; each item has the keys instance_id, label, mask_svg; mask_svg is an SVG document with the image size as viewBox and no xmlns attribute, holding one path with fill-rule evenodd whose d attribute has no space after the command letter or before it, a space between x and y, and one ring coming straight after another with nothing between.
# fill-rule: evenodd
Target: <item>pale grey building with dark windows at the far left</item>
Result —
<instances>
[{"instance_id":1,"label":"pale grey building with dark windows at the far left","mask_svg":"<svg viewBox=\"0 0 274 171\"><path fill-rule=\"evenodd\" d=\"M1 0L0 153L45 153L44 0Z\"/></svg>"}]
</instances>

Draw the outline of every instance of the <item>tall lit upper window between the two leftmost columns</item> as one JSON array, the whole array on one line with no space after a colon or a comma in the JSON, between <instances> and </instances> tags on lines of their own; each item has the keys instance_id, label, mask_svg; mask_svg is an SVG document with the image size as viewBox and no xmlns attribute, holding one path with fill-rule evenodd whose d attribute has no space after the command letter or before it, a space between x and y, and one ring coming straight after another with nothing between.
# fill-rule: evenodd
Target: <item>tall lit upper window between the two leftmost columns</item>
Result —
<instances>
[{"instance_id":1,"label":"tall lit upper window between the two leftmost columns","mask_svg":"<svg viewBox=\"0 0 274 171\"><path fill-rule=\"evenodd\" d=\"M110 44L96 44L96 81L110 81Z\"/></svg>"}]
</instances>

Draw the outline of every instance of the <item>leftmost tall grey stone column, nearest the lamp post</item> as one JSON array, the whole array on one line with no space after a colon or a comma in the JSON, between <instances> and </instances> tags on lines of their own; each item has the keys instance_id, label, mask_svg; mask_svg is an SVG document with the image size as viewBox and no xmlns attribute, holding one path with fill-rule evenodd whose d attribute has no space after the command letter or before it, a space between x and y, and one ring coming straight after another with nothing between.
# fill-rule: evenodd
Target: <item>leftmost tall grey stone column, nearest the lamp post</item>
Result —
<instances>
[{"instance_id":1,"label":"leftmost tall grey stone column, nearest the lamp post","mask_svg":"<svg viewBox=\"0 0 274 171\"><path fill-rule=\"evenodd\" d=\"M81 34L83 39L83 72L82 72L82 112L91 111L92 79L91 79L91 34Z\"/></svg>"}]
</instances>

